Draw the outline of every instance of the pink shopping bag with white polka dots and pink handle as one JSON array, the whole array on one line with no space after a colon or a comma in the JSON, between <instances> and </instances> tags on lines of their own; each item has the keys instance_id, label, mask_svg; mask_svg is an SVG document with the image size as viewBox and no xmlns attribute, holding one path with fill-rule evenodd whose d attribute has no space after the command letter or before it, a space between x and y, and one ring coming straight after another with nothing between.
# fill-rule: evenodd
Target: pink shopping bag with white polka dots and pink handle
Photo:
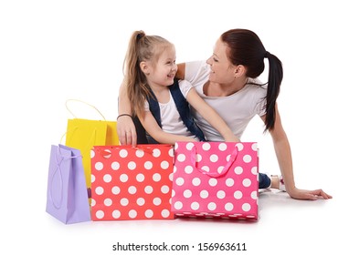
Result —
<instances>
[{"instance_id":1,"label":"pink shopping bag with white polka dots and pink handle","mask_svg":"<svg viewBox=\"0 0 359 255\"><path fill-rule=\"evenodd\" d=\"M179 217L258 219L257 143L177 142L172 212Z\"/></svg>"}]
</instances>

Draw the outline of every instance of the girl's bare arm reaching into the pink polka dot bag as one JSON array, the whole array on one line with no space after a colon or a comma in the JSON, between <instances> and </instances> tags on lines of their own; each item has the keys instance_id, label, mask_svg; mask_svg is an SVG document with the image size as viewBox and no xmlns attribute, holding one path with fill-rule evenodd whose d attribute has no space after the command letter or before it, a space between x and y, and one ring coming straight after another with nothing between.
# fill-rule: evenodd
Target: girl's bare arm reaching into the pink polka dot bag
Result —
<instances>
[{"instance_id":1,"label":"girl's bare arm reaching into the pink polka dot bag","mask_svg":"<svg viewBox=\"0 0 359 255\"><path fill-rule=\"evenodd\" d=\"M232 130L227 126L226 122L220 117L216 110L210 107L206 101L199 97L195 88L191 88L188 91L186 97L188 103L195 108L195 110L208 121L210 125L212 125L216 130L222 135L222 137L227 142L238 142L239 138L237 138Z\"/></svg>"}]
</instances>

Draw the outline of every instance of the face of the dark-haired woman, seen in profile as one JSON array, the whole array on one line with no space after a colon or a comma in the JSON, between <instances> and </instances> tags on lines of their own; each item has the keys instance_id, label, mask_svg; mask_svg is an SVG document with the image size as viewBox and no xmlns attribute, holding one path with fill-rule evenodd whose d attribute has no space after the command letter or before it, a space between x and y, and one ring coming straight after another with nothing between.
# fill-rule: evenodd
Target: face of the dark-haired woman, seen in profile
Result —
<instances>
[{"instance_id":1,"label":"face of the dark-haired woman, seen in profile","mask_svg":"<svg viewBox=\"0 0 359 255\"><path fill-rule=\"evenodd\" d=\"M206 63L211 66L211 73L209 74L209 81L228 84L235 79L236 66L230 63L227 57L227 45L219 38L213 51Z\"/></svg>"}]
</instances>

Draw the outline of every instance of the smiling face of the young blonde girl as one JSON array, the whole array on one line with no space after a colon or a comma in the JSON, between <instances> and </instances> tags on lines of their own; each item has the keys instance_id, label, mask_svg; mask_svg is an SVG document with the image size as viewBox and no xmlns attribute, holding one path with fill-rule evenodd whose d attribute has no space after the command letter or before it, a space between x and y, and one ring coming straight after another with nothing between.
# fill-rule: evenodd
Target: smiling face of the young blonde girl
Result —
<instances>
[{"instance_id":1,"label":"smiling face of the young blonde girl","mask_svg":"<svg viewBox=\"0 0 359 255\"><path fill-rule=\"evenodd\" d=\"M176 72L175 49L174 46L168 46L160 53L157 63L151 65L147 80L150 85L170 86L174 84Z\"/></svg>"}]
</instances>

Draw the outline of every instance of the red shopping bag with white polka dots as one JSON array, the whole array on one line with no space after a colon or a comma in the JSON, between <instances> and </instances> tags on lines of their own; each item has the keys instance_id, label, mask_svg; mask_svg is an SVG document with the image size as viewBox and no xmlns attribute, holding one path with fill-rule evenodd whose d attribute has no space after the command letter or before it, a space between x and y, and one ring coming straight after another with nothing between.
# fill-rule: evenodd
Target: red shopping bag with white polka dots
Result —
<instances>
[{"instance_id":1,"label":"red shopping bag with white polka dots","mask_svg":"<svg viewBox=\"0 0 359 255\"><path fill-rule=\"evenodd\" d=\"M174 219L171 145L94 146L92 220Z\"/></svg>"}]
</instances>

